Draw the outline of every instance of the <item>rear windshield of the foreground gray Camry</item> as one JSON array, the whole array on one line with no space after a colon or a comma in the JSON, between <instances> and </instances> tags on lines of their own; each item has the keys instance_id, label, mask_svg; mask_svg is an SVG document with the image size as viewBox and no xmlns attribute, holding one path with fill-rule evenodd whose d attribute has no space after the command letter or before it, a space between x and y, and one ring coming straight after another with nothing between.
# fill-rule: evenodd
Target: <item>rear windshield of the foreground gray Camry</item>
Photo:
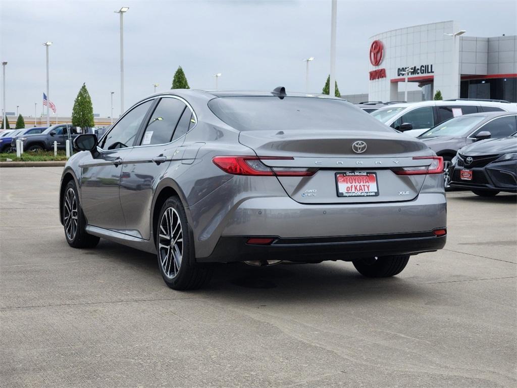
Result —
<instances>
[{"instance_id":1,"label":"rear windshield of the foreground gray Camry","mask_svg":"<svg viewBox=\"0 0 517 388\"><path fill-rule=\"evenodd\" d=\"M318 97L218 97L208 107L239 131L252 130L389 130L344 100Z\"/></svg>"}]
</instances>

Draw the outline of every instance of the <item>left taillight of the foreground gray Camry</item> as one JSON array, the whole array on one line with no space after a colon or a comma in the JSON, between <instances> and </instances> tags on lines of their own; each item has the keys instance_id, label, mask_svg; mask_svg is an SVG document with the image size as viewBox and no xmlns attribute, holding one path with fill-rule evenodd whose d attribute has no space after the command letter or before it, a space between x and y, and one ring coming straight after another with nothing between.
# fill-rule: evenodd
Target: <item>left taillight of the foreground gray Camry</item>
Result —
<instances>
[{"instance_id":1,"label":"left taillight of the foreground gray Camry","mask_svg":"<svg viewBox=\"0 0 517 388\"><path fill-rule=\"evenodd\" d=\"M293 160L290 156L216 156L212 161L224 172L255 176L312 176L317 169L268 167L261 160Z\"/></svg>"}]
</instances>

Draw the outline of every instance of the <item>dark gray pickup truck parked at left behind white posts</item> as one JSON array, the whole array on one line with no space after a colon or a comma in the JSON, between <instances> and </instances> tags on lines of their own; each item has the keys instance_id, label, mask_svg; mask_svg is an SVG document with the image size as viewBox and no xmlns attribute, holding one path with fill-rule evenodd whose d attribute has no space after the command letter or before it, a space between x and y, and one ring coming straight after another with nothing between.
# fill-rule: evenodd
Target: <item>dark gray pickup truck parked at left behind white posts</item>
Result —
<instances>
[{"instance_id":1,"label":"dark gray pickup truck parked at left behind white posts","mask_svg":"<svg viewBox=\"0 0 517 388\"><path fill-rule=\"evenodd\" d=\"M70 136L68 135L70 132ZM23 140L23 148L26 151L51 151L54 149L54 141L57 141L57 148L64 150L66 141L73 141L82 131L71 124L56 124L45 129L36 135L17 136L12 139L11 147L16 148L16 140Z\"/></svg>"}]
</instances>

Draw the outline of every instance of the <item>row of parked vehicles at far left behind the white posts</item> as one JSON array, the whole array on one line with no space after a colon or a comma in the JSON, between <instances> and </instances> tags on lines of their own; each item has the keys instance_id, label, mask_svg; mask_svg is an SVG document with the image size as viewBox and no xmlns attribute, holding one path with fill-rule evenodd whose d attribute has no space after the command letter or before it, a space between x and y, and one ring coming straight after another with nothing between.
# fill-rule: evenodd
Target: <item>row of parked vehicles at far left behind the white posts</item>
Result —
<instances>
[{"instance_id":1,"label":"row of parked vehicles at far left behind the white posts","mask_svg":"<svg viewBox=\"0 0 517 388\"><path fill-rule=\"evenodd\" d=\"M23 141L24 151L51 151L54 149L54 142L57 142L58 150L64 150L67 140L73 142L73 139L83 133L92 133L100 138L104 131L104 128L81 129L71 124L5 130L0 132L0 152L15 151L17 140Z\"/></svg>"}]
</instances>

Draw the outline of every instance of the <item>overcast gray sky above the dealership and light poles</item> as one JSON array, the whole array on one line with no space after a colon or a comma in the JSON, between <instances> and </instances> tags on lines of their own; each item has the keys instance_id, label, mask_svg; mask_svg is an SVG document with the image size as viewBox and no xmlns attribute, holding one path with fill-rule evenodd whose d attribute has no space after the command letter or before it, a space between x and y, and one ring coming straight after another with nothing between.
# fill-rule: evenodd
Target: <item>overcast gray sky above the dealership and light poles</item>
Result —
<instances>
[{"instance_id":1,"label":"overcast gray sky above the dealership and light poles","mask_svg":"<svg viewBox=\"0 0 517 388\"><path fill-rule=\"evenodd\" d=\"M0 59L6 110L41 112L50 40L50 99L70 115L83 82L94 112L120 113L119 16L124 17L125 108L169 89L178 65L191 88L321 92L329 73L330 0L321 1L6 1L0 0ZM457 20L466 36L517 34L517 1L338 1L337 74L341 94L368 92L368 38L424 23Z\"/></svg>"}]
</instances>

